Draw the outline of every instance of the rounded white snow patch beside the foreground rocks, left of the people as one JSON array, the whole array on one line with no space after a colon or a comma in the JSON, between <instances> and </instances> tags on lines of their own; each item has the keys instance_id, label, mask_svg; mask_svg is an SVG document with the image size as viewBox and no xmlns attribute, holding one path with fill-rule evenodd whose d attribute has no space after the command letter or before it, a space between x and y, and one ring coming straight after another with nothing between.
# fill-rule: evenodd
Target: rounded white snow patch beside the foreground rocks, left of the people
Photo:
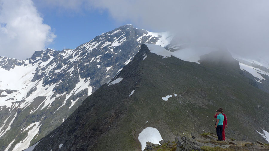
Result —
<instances>
[{"instance_id":1,"label":"rounded white snow patch beside the foreground rocks, left of the people","mask_svg":"<svg viewBox=\"0 0 269 151\"><path fill-rule=\"evenodd\" d=\"M163 138L161 137L160 132L153 127L147 127L138 136L138 140L141 144L142 151L146 148L146 142L151 142L153 144L159 144L159 141L161 141Z\"/></svg>"}]
</instances>

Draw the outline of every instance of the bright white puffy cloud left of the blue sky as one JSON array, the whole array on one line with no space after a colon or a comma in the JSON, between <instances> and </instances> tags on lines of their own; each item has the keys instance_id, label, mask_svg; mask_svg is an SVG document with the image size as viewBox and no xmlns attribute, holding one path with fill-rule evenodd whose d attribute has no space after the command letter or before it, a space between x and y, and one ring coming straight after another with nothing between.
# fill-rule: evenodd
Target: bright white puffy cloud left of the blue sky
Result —
<instances>
[{"instance_id":1,"label":"bright white puffy cloud left of the blue sky","mask_svg":"<svg viewBox=\"0 0 269 151\"><path fill-rule=\"evenodd\" d=\"M31 0L0 0L0 55L26 59L56 36Z\"/></svg>"}]
</instances>

